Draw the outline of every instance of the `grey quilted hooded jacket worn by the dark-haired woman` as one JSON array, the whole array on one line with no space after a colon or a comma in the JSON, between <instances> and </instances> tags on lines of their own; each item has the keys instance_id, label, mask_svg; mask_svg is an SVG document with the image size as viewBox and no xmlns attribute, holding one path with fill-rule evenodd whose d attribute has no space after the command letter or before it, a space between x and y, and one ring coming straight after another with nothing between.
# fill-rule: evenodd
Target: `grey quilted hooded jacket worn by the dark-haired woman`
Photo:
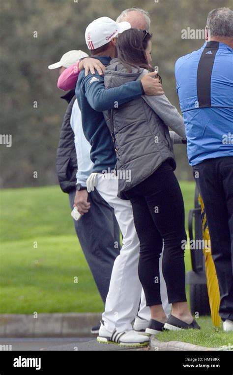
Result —
<instances>
[{"instance_id":1,"label":"grey quilted hooded jacket worn by the dark-haired woman","mask_svg":"<svg viewBox=\"0 0 233 375\"><path fill-rule=\"evenodd\" d=\"M143 68L131 68L128 73L118 59L113 59L105 71L105 87L118 87L140 80L148 73ZM143 95L119 108L105 111L104 116L117 152L118 196L144 181L165 161L176 168L173 142L186 140L184 122L165 95ZM169 129L174 130L169 133ZM176 133L176 134L175 134ZM172 138L172 139L171 139Z\"/></svg>"}]
</instances>

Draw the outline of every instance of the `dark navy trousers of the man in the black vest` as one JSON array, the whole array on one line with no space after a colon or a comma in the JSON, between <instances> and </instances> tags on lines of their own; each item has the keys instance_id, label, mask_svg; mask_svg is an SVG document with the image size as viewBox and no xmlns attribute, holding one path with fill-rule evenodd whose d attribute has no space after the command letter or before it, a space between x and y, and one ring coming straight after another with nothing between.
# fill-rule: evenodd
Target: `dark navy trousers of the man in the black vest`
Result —
<instances>
[{"instance_id":1,"label":"dark navy trousers of the man in the black vest","mask_svg":"<svg viewBox=\"0 0 233 375\"><path fill-rule=\"evenodd\" d=\"M73 209L76 190L69 193ZM74 226L100 296L105 303L113 269L120 250L119 226L114 210L95 189L88 196L90 209Z\"/></svg>"}]
</instances>

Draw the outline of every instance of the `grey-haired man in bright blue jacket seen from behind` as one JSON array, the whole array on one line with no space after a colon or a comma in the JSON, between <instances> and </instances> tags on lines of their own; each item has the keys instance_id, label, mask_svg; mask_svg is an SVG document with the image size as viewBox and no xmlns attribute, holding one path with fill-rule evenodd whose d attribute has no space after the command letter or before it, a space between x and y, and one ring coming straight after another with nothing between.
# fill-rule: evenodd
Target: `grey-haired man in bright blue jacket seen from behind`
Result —
<instances>
[{"instance_id":1,"label":"grey-haired man in bright blue jacket seen from behind","mask_svg":"<svg viewBox=\"0 0 233 375\"><path fill-rule=\"evenodd\" d=\"M202 195L224 331L233 331L233 11L212 10L204 46L175 64L189 164Z\"/></svg>"}]
</instances>

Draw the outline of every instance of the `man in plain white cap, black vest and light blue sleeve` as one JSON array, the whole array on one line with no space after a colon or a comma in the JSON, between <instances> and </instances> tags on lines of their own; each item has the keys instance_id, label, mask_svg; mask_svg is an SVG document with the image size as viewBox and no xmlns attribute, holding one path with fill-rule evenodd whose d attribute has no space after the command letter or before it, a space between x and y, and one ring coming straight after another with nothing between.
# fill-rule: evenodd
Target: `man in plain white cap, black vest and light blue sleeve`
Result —
<instances>
[{"instance_id":1,"label":"man in plain white cap, black vest and light blue sleeve","mask_svg":"<svg viewBox=\"0 0 233 375\"><path fill-rule=\"evenodd\" d=\"M79 59L88 56L83 51L69 51L49 69L61 73ZM70 90L62 99L69 105L61 126L57 152L58 180L62 191L69 194L71 209L75 205L82 217L74 220L75 230L92 272L100 296L105 303L114 261L119 254L119 226L114 210L96 191L87 192L87 178L93 163L90 144L84 136L81 112ZM78 164L78 170L77 170ZM91 333L98 333L99 324Z\"/></svg>"}]
</instances>

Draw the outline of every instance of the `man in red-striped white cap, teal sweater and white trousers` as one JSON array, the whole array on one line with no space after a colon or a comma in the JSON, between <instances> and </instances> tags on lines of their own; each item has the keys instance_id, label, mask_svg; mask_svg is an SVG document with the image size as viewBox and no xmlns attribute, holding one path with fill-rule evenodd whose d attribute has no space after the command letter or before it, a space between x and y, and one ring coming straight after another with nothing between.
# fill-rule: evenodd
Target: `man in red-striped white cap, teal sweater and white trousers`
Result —
<instances>
[{"instance_id":1,"label":"man in red-striped white cap, teal sweater and white trousers","mask_svg":"<svg viewBox=\"0 0 233 375\"><path fill-rule=\"evenodd\" d=\"M128 22L117 23L108 17L101 17L87 26L86 43L92 54L104 66L116 57L116 37L131 27ZM162 86L153 77L145 75L141 81L133 81L106 90L104 78L99 74L81 72L76 95L82 112L84 133L91 144L90 158L94 163L92 174L87 180L88 190L97 189L99 194L115 210L117 222L123 235L123 245L117 257L111 277L105 312L99 331L100 342L114 342L120 345L144 346L149 338L132 329L132 321L138 313L142 285L138 277L139 240L133 220L131 203L117 197L117 177L108 176L116 165L116 153L102 111L111 109L143 95L162 95ZM164 288L166 286L164 284ZM140 311L145 309L142 295ZM142 316L142 315L141 315ZM137 324L137 331L145 331L148 320Z\"/></svg>"}]
</instances>

